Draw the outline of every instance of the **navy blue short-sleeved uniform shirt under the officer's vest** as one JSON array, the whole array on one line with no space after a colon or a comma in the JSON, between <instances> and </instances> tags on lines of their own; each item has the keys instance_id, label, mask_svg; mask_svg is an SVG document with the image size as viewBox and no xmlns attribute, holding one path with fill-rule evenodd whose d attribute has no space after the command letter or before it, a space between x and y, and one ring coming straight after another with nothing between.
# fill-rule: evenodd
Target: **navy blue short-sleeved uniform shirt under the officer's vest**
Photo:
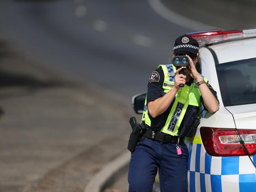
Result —
<instances>
[{"instance_id":1,"label":"navy blue short-sleeved uniform shirt under the officer's vest","mask_svg":"<svg viewBox=\"0 0 256 192\"><path fill-rule=\"evenodd\" d=\"M191 80L189 82L186 82L186 85L191 85L191 83L193 81L194 81L194 79L191 78ZM148 104L148 102L154 101L164 95L163 82L164 82L164 73L163 73L163 69L160 67L160 68L157 68L156 70L154 70L149 78L148 92L147 92L147 104ZM219 100L217 98L217 92L211 87L209 82L206 82L206 85L209 87L210 91L212 92L214 97L219 102ZM151 128L152 129L160 130L165 125L165 122L168 118L169 113L171 112L171 108L173 106L174 101L175 101L175 98L173 99L173 102L170 104L170 106L167 108L167 110L165 112L163 112L162 114L156 116L156 118L152 118L150 116L150 114L148 113L148 116L151 120ZM204 109L207 110L206 107L204 107ZM198 111L199 111L199 107L198 107ZM185 114L185 116L186 116L186 114Z\"/></svg>"}]
</instances>

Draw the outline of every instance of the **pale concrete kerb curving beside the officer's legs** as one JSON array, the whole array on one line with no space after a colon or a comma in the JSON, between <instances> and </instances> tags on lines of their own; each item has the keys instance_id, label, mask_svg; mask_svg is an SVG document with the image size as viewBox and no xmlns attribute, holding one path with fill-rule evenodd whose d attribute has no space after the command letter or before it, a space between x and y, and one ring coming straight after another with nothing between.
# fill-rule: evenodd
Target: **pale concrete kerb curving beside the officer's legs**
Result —
<instances>
[{"instance_id":1,"label":"pale concrete kerb curving beside the officer's legs","mask_svg":"<svg viewBox=\"0 0 256 192\"><path fill-rule=\"evenodd\" d=\"M125 170L129 164L131 157L130 151L125 151L119 155L112 162L104 166L96 175L92 177L84 192L100 192L107 186L113 184L122 171Z\"/></svg>"}]
</instances>

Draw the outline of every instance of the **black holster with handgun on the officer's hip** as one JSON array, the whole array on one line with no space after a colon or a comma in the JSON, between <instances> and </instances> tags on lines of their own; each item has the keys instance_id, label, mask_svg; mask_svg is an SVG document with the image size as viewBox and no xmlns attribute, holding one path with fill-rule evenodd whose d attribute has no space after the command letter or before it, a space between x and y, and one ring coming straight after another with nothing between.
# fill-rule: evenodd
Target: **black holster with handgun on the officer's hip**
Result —
<instances>
[{"instance_id":1,"label":"black holster with handgun on the officer's hip","mask_svg":"<svg viewBox=\"0 0 256 192\"><path fill-rule=\"evenodd\" d=\"M129 122L132 127L132 133L130 134L127 149L131 152L134 152L137 142L139 142L142 135L145 133L146 128L140 123L137 123L135 117L131 117Z\"/></svg>"}]
</instances>

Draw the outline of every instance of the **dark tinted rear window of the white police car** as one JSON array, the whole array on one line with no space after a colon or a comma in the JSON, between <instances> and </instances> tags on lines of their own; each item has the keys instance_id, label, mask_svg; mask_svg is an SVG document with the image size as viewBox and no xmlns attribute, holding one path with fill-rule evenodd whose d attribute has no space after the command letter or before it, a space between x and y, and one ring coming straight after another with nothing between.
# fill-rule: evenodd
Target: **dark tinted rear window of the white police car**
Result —
<instances>
[{"instance_id":1,"label":"dark tinted rear window of the white police car","mask_svg":"<svg viewBox=\"0 0 256 192\"><path fill-rule=\"evenodd\" d=\"M256 58L215 66L224 106L256 103Z\"/></svg>"}]
</instances>

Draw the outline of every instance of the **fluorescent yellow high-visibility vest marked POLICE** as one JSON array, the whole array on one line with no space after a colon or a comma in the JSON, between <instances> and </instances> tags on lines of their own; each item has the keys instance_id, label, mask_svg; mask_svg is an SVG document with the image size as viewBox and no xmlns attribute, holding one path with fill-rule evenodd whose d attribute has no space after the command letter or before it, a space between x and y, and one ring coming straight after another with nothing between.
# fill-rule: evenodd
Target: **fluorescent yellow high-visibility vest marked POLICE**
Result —
<instances>
[{"instance_id":1,"label":"fluorescent yellow high-visibility vest marked POLICE","mask_svg":"<svg viewBox=\"0 0 256 192\"><path fill-rule=\"evenodd\" d=\"M176 74L176 68L173 65L159 65L162 67L164 73L163 92L167 93L174 86L174 76ZM204 77L203 77L204 78ZM204 81L208 81L204 78ZM181 87L175 96L175 101L165 122L165 125L161 128L161 132L170 135L178 135L178 128L184 118L188 105L200 107L201 93L197 86L197 82L194 80L190 86L184 85ZM142 121L148 126L151 125L151 120L148 116L147 98L145 100Z\"/></svg>"}]
</instances>

